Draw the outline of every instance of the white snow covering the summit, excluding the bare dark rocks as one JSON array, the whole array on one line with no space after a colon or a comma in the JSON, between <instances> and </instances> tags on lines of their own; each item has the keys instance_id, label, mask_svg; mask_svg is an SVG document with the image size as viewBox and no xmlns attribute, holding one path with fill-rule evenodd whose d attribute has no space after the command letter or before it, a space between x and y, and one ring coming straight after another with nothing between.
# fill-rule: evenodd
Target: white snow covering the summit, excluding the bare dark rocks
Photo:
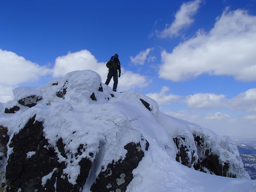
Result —
<instances>
[{"instance_id":1,"label":"white snow covering the summit, excluding the bare dark rocks","mask_svg":"<svg viewBox=\"0 0 256 192\"><path fill-rule=\"evenodd\" d=\"M98 91L100 86L103 92ZM65 99L56 95L56 92L63 89L67 91ZM229 138L217 136L199 125L159 112L157 102L142 93L112 92L94 71L73 71L41 87L17 87L13 93L12 101L0 103L0 125L8 127L7 134L11 140L14 133L18 133L36 114L36 120L44 122L44 136L56 152L56 142L60 137L66 144L68 159L62 157L60 152L58 157L60 162L66 161L67 168L63 172L68 174L72 184L76 183L80 172L80 160L87 157L93 161L96 153L99 153L99 145L104 144L104 147L100 152L102 156L99 166L95 167L97 173L101 166L106 169L113 159L118 161L120 157L124 158L127 151L123 146L127 143L140 142L144 146L145 140L142 142L141 138L146 138L150 143L149 149L145 151L144 147L141 148L145 156L133 170L134 178L127 191L256 191L256 183L250 180L247 172L234 168L232 173L236 173L240 179L221 177L196 171L193 166L189 168L175 160L178 149L173 138L178 136L187 138L184 142L190 146L187 152L190 159L193 155L196 160L204 155L205 151L193 154L193 150L197 150L193 140L193 134L196 134L204 137L207 141L204 148L218 153L223 163L226 161L234 167L242 168L237 147L231 144ZM97 101L90 98L92 93ZM19 99L31 95L42 97L36 106L29 108L18 103ZM145 108L140 99L150 104L151 111ZM4 113L5 108L14 105L19 106L20 110L14 114ZM137 120L130 121L134 118ZM71 153L75 154L80 144L83 144L85 151L77 159L71 157ZM11 153L12 148L8 147L7 158ZM93 153L93 157L89 153ZM52 173L42 178L42 184L50 179ZM89 174L86 185L93 178L95 176ZM119 182L122 182L122 177ZM84 187L83 191L89 191L89 187Z\"/></svg>"}]
</instances>

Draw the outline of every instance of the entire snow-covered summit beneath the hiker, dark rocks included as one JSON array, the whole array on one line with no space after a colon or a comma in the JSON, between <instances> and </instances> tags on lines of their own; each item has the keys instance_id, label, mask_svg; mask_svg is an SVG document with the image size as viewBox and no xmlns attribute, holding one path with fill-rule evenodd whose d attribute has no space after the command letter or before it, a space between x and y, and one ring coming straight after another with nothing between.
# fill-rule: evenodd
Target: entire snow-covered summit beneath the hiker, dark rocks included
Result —
<instances>
[{"instance_id":1,"label":"entire snow-covered summit beneath the hiker, dark rocks included","mask_svg":"<svg viewBox=\"0 0 256 192\"><path fill-rule=\"evenodd\" d=\"M0 103L6 191L254 191L250 179L228 178L250 178L228 138L139 92L113 92L94 71L13 93Z\"/></svg>"}]
</instances>

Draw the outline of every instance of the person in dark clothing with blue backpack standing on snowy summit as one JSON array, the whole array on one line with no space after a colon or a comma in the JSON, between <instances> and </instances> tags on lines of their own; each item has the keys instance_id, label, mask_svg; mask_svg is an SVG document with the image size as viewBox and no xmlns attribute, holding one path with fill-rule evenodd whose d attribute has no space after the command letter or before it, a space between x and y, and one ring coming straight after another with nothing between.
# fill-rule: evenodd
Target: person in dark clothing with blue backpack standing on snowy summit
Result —
<instances>
[{"instance_id":1,"label":"person in dark clothing with blue backpack standing on snowy summit","mask_svg":"<svg viewBox=\"0 0 256 192\"><path fill-rule=\"evenodd\" d=\"M114 56L112 56L110 60L107 62L106 66L107 68L109 68L109 72L108 72L108 78L105 84L109 85L109 82L113 77L113 80L114 80L113 91L116 92L118 77L121 76L121 66L120 66L120 61L118 59L118 54L115 54ZM119 71L118 77L117 77L117 70Z\"/></svg>"}]
</instances>

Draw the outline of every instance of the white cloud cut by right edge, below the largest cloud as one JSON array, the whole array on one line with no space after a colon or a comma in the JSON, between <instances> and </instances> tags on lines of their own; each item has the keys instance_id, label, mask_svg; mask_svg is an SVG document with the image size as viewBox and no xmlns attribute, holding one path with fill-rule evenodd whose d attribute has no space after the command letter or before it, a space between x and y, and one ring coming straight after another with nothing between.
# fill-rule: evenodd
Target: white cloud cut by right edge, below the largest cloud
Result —
<instances>
[{"instance_id":1,"label":"white cloud cut by right edge, below the largest cloud","mask_svg":"<svg viewBox=\"0 0 256 192\"><path fill-rule=\"evenodd\" d=\"M256 112L256 89L240 93L229 99L224 106L233 111Z\"/></svg>"}]
</instances>

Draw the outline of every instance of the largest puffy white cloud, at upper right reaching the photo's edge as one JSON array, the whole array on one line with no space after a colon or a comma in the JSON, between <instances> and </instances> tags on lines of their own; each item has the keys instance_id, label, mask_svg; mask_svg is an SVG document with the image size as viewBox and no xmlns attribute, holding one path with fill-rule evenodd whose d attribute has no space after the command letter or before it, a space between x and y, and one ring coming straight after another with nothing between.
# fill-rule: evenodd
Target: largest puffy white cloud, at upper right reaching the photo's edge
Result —
<instances>
[{"instance_id":1,"label":"largest puffy white cloud, at upper right reaching the photo's edge","mask_svg":"<svg viewBox=\"0 0 256 192\"><path fill-rule=\"evenodd\" d=\"M163 51L159 77L185 81L202 73L256 80L256 16L246 10L225 10L209 33L180 43L172 53Z\"/></svg>"}]
</instances>

